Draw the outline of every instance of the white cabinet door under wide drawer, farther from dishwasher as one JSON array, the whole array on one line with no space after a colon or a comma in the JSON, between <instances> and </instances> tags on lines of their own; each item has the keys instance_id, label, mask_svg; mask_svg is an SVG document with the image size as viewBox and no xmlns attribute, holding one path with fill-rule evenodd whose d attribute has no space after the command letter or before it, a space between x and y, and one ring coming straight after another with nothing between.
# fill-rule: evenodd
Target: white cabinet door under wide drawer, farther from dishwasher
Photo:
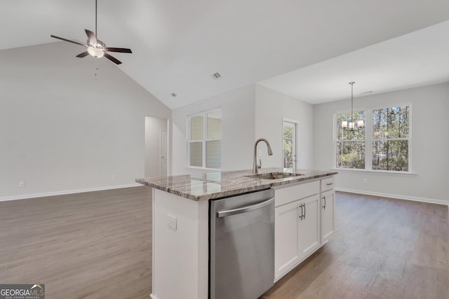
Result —
<instances>
[{"instance_id":1,"label":"white cabinet door under wide drawer, farther from dishwasher","mask_svg":"<svg viewBox=\"0 0 449 299\"><path fill-rule=\"evenodd\" d=\"M320 197L314 195L300 200L299 221L300 260L309 256L320 246Z\"/></svg>"}]
</instances>

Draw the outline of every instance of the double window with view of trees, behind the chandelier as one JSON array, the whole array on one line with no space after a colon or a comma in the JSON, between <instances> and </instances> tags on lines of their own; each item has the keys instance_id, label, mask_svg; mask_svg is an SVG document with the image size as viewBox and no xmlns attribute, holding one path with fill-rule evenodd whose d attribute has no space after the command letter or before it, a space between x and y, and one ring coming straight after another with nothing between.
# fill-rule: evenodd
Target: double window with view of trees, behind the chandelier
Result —
<instances>
[{"instance_id":1,"label":"double window with view of trees, behind the chandelier","mask_svg":"<svg viewBox=\"0 0 449 299\"><path fill-rule=\"evenodd\" d=\"M335 165L337 168L409 172L410 106L392 106L354 112L364 120L361 130L343 130L351 113L336 115Z\"/></svg>"}]
</instances>

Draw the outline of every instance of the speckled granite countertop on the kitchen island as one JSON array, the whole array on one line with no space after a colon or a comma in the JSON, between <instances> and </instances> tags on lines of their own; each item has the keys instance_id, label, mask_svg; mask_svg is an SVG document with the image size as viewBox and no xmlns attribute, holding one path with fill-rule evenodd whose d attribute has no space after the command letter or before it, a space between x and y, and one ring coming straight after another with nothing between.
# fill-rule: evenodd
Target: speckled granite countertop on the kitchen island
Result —
<instances>
[{"instance_id":1,"label":"speckled granite countertop on the kitchen island","mask_svg":"<svg viewBox=\"0 0 449 299\"><path fill-rule=\"evenodd\" d=\"M259 169L259 174L283 172L281 168ZM179 176L163 176L135 181L152 188L179 195L189 200L210 200L211 198L239 195L255 190L263 190L274 186L300 183L312 179L321 179L337 174L335 171L295 169L293 173L304 174L285 179L257 179L247 177L252 170L231 172L207 172L204 174L185 174Z\"/></svg>"}]
</instances>

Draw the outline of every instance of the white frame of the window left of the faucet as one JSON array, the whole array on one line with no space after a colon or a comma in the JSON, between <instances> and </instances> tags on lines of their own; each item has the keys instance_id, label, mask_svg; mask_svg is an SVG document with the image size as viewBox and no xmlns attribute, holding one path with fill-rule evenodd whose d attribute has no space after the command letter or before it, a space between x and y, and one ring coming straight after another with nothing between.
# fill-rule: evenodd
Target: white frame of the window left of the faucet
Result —
<instances>
[{"instance_id":1,"label":"white frame of the window left of the faucet","mask_svg":"<svg viewBox=\"0 0 449 299\"><path fill-rule=\"evenodd\" d=\"M221 107L217 107L214 109L209 109L209 110L204 110L204 111L200 111L200 112L196 112L196 113L191 113L187 115L187 166L188 168L192 168L192 169L208 169L208 170L216 170L216 171L221 171L222 167L220 168L210 168L210 167L206 167L206 143L207 141L222 141L222 134L220 132L220 139L208 139L207 137L207 116L208 113L212 113L215 111L220 111L220 114L222 114L222 109ZM191 136L192 136L192 117L195 116L203 116L203 139L200 140L191 140ZM220 118L222 120L222 118ZM220 131L222 127L220 127ZM194 143L194 142L201 142L202 144L202 160L201 160L201 167L199 166L192 166L190 165L190 144ZM220 165L222 165L222 157L221 157L221 144L220 144Z\"/></svg>"}]
</instances>

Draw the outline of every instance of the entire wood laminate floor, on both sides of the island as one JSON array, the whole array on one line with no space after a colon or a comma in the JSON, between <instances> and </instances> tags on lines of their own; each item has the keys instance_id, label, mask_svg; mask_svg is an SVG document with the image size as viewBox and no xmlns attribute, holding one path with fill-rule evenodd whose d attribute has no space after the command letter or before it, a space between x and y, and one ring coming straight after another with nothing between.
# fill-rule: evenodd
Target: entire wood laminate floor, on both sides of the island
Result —
<instances>
[{"instance_id":1,"label":"entire wood laminate floor, on both sides of the island","mask_svg":"<svg viewBox=\"0 0 449 299\"><path fill-rule=\"evenodd\" d=\"M149 298L150 190L0 202L0 284L43 283L47 299ZM335 209L330 242L261 298L449 298L448 207L337 193Z\"/></svg>"}]
</instances>

